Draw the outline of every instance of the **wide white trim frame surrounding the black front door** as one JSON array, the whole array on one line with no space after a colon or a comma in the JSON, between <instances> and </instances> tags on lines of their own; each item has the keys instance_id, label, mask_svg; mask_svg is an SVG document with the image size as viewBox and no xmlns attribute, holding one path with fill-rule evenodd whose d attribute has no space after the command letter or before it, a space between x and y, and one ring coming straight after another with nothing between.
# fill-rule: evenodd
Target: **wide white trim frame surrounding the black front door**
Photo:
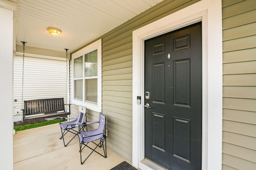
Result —
<instances>
[{"instance_id":1,"label":"wide white trim frame surrounding the black front door","mask_svg":"<svg viewBox=\"0 0 256 170\"><path fill-rule=\"evenodd\" d=\"M202 21L202 169L222 167L222 3L201 0L132 33L132 164L152 169L144 160L144 41ZM137 96L141 104L137 104ZM159 167L160 168L160 167Z\"/></svg>"}]
</instances>

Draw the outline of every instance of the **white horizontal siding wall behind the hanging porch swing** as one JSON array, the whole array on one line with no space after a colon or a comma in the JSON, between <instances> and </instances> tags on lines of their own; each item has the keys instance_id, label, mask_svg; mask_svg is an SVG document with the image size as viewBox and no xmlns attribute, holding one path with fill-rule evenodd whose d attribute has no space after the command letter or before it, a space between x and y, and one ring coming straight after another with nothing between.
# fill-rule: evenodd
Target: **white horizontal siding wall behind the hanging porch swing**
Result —
<instances>
[{"instance_id":1,"label":"white horizontal siding wall behind the hanging porch swing","mask_svg":"<svg viewBox=\"0 0 256 170\"><path fill-rule=\"evenodd\" d=\"M14 115L22 114L23 57L14 57ZM66 61L24 57L23 101L42 98L64 98L67 103Z\"/></svg>"}]
</instances>

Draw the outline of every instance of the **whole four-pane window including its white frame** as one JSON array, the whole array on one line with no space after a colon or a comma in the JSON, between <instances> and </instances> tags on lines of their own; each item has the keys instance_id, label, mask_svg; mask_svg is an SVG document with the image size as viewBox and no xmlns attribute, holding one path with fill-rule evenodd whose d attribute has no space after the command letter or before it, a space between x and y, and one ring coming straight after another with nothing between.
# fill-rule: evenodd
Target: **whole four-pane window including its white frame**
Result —
<instances>
[{"instance_id":1,"label":"whole four-pane window including its white frame","mask_svg":"<svg viewBox=\"0 0 256 170\"><path fill-rule=\"evenodd\" d=\"M101 111L101 39L72 54L72 104Z\"/></svg>"}]
</instances>

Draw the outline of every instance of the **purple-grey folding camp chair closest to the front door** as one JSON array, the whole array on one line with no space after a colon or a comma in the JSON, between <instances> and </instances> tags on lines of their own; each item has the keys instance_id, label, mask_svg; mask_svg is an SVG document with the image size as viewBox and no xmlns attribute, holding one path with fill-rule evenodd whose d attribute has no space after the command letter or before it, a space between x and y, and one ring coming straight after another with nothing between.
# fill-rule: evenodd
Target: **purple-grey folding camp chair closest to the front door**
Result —
<instances>
[{"instance_id":1,"label":"purple-grey folding camp chair closest to the front door","mask_svg":"<svg viewBox=\"0 0 256 170\"><path fill-rule=\"evenodd\" d=\"M106 150L106 116L104 116L102 113L100 113L99 121L86 122L84 124L90 125L90 124L93 124L93 123L99 123L98 129L95 129L95 130L92 130L92 131L87 131L87 132L81 132L80 134L78 134L79 141L80 141L80 151L79 152L80 152L81 164L84 164L84 162L87 160L87 158L89 158L89 156L94 151L96 153L100 154L101 156L103 156L104 158L107 157L107 150ZM96 140L99 140L98 141L99 143L97 142L98 144L96 143ZM94 149L92 149L91 147L88 146L88 143L90 143L90 142L92 142L96 145L96 147ZM105 142L105 144L104 144L104 142ZM90 148L92 150L92 152L82 162L82 150L85 147ZM97 147L102 147L103 148L104 155L96 151Z\"/></svg>"}]
</instances>

